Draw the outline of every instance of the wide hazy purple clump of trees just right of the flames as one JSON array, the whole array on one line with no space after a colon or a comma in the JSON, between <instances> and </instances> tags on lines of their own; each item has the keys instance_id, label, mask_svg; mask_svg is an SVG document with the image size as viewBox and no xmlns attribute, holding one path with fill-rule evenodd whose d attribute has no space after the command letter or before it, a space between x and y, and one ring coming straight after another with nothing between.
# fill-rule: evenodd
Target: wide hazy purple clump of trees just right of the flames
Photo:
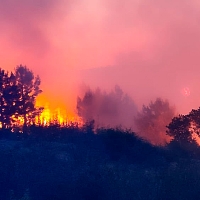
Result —
<instances>
[{"instance_id":1,"label":"wide hazy purple clump of trees just right of the flames","mask_svg":"<svg viewBox=\"0 0 200 200\"><path fill-rule=\"evenodd\" d=\"M137 106L119 86L107 93L99 88L87 90L77 100L78 115L84 122L95 120L96 127L133 128Z\"/></svg>"}]
</instances>

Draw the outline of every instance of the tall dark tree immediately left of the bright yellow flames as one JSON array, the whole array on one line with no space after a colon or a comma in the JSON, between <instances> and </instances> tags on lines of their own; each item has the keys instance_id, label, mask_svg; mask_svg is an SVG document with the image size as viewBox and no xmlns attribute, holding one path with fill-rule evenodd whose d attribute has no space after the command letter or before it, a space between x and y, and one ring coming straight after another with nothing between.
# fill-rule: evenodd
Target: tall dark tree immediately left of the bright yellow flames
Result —
<instances>
[{"instance_id":1,"label":"tall dark tree immediately left of the bright yellow flames","mask_svg":"<svg viewBox=\"0 0 200 200\"><path fill-rule=\"evenodd\" d=\"M15 69L15 78L19 90L19 98L16 102L16 117L23 118L23 127L34 121L42 108L36 108L36 97L42 92L40 90L40 78L34 76L33 72L26 66L19 65Z\"/></svg>"}]
</instances>

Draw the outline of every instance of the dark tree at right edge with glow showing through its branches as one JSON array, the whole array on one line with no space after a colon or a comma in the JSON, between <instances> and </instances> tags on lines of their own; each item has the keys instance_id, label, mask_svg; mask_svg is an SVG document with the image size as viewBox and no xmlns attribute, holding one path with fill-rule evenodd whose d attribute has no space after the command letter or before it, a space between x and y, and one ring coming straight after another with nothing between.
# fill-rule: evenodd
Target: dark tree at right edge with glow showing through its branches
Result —
<instances>
[{"instance_id":1,"label":"dark tree at right edge with glow showing through its branches","mask_svg":"<svg viewBox=\"0 0 200 200\"><path fill-rule=\"evenodd\" d=\"M178 157L199 158L200 144L200 108L187 115L174 117L167 126L167 135L173 140L168 148Z\"/></svg>"}]
</instances>

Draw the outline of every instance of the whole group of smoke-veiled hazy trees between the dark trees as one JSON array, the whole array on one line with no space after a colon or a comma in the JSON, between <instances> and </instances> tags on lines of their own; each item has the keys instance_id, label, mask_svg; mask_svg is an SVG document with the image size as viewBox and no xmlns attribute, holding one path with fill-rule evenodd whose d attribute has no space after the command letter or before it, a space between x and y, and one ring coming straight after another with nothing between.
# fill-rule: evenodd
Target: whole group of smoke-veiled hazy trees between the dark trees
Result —
<instances>
[{"instance_id":1,"label":"whole group of smoke-veiled hazy trees between the dark trees","mask_svg":"<svg viewBox=\"0 0 200 200\"><path fill-rule=\"evenodd\" d=\"M83 97L77 99L77 112L84 122L94 120L96 128L131 128L154 145L165 145L172 139L166 135L166 126L176 115L175 107L161 98L138 111L134 100L119 86L110 93L88 88Z\"/></svg>"}]
</instances>

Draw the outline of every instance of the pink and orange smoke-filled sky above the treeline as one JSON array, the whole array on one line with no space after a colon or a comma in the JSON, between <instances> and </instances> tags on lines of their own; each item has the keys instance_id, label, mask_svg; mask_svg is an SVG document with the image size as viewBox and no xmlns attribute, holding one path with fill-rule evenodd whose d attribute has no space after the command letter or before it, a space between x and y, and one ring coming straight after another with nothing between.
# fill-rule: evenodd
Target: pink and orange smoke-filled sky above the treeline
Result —
<instances>
[{"instance_id":1,"label":"pink and orange smoke-filled sky above the treeline","mask_svg":"<svg viewBox=\"0 0 200 200\"><path fill-rule=\"evenodd\" d=\"M139 106L200 106L199 0L0 0L0 28L0 67L27 65L55 107L115 84Z\"/></svg>"}]
</instances>

